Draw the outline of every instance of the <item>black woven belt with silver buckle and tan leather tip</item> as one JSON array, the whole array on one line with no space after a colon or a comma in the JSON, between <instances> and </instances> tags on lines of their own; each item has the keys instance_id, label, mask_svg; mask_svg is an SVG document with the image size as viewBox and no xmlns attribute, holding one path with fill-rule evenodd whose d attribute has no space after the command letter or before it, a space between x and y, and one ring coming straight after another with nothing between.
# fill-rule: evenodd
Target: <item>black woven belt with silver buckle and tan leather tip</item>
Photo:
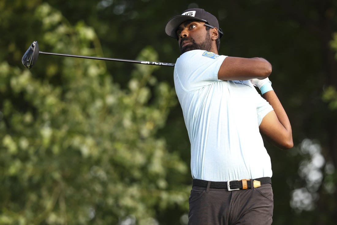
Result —
<instances>
[{"instance_id":1,"label":"black woven belt with silver buckle and tan leather tip","mask_svg":"<svg viewBox=\"0 0 337 225\"><path fill-rule=\"evenodd\" d=\"M238 190L238 189L247 189L251 188L252 185L254 188L258 187L261 184L272 183L272 179L270 177L261 177L256 179L247 179L247 180L231 180L231 181L211 181L210 188L217 189L227 189L228 191ZM198 180L193 179L193 186L200 186L207 188L208 181L207 180ZM244 187L243 187L244 185Z\"/></svg>"}]
</instances>

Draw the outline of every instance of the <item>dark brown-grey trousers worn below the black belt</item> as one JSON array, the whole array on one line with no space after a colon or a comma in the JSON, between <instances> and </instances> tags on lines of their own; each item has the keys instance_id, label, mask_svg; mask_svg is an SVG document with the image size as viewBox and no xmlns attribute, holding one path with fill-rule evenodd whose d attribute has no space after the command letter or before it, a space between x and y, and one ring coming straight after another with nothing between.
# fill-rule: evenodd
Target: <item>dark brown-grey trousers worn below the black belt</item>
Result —
<instances>
[{"instance_id":1,"label":"dark brown-grey trousers worn below the black belt","mask_svg":"<svg viewBox=\"0 0 337 225\"><path fill-rule=\"evenodd\" d=\"M271 184L227 191L193 186L188 225L269 225L273 217Z\"/></svg>"}]
</instances>

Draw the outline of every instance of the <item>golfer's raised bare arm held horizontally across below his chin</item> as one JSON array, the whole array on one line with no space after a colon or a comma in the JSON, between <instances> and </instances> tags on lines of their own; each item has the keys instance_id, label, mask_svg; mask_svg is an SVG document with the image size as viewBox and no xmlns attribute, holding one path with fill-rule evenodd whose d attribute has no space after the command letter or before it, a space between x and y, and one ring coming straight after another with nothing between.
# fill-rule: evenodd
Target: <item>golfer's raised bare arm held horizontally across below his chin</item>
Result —
<instances>
[{"instance_id":1,"label":"golfer's raised bare arm held horizontally across below his chin","mask_svg":"<svg viewBox=\"0 0 337 225\"><path fill-rule=\"evenodd\" d=\"M271 64L264 58L227 56L218 71L220 80L264 79L272 72Z\"/></svg>"}]
</instances>

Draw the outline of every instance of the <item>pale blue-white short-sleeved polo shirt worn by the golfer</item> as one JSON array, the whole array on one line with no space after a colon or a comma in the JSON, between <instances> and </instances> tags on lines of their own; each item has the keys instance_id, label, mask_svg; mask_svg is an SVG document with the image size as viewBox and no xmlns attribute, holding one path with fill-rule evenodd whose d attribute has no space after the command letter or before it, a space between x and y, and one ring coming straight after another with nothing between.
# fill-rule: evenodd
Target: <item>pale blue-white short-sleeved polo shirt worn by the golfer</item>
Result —
<instances>
[{"instance_id":1,"label":"pale blue-white short-sleeved polo shirt worn by the golfer","mask_svg":"<svg viewBox=\"0 0 337 225\"><path fill-rule=\"evenodd\" d=\"M271 161L258 126L273 110L249 80L223 81L224 55L182 54L174 68L176 93L191 143L193 179L271 177Z\"/></svg>"}]
</instances>

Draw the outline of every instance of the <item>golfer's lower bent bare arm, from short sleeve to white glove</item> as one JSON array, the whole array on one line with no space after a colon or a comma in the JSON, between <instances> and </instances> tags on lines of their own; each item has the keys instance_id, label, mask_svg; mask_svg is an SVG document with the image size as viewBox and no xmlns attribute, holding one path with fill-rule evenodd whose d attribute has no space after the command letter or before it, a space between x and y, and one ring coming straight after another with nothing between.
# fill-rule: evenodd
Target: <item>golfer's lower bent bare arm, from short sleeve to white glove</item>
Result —
<instances>
[{"instance_id":1,"label":"golfer's lower bent bare arm, from short sleeve to white glove","mask_svg":"<svg viewBox=\"0 0 337 225\"><path fill-rule=\"evenodd\" d=\"M292 148L294 146L292 127L281 102L274 91L266 92L262 97L274 110L263 118L259 126L260 132L278 148L283 150Z\"/></svg>"}]
</instances>

